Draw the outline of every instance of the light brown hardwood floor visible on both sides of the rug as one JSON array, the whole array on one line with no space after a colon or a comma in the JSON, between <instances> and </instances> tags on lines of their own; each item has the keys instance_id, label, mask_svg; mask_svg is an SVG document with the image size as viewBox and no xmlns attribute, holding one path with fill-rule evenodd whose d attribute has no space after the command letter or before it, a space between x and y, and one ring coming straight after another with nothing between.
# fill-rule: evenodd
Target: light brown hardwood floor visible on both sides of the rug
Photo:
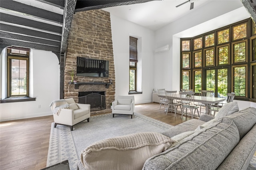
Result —
<instances>
[{"instance_id":1,"label":"light brown hardwood floor visible on both sides of the rug","mask_svg":"<svg viewBox=\"0 0 256 170\"><path fill-rule=\"evenodd\" d=\"M110 110L111 111L111 110ZM190 116L174 117L174 113L159 110L158 103L137 104L135 112L177 125ZM53 116L4 121L0 123L0 169L1 170L40 170L46 168L51 123Z\"/></svg>"}]
</instances>

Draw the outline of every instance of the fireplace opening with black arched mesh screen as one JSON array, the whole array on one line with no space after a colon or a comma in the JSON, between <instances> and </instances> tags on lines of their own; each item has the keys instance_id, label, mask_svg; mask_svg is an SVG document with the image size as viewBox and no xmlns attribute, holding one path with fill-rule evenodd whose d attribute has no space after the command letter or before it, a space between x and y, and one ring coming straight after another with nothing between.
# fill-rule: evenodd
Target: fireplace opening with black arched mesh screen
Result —
<instances>
[{"instance_id":1,"label":"fireplace opening with black arched mesh screen","mask_svg":"<svg viewBox=\"0 0 256 170\"><path fill-rule=\"evenodd\" d=\"M106 92L90 91L90 92L79 92L78 103L90 104L91 111L106 109Z\"/></svg>"}]
</instances>

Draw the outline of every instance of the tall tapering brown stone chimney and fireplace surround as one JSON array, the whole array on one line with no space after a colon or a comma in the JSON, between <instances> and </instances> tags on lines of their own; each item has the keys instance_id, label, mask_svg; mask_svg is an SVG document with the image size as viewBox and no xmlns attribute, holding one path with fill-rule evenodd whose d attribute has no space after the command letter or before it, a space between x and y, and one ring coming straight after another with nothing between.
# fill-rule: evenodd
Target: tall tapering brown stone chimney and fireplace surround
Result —
<instances>
[{"instance_id":1,"label":"tall tapering brown stone chimney and fireplace surround","mask_svg":"<svg viewBox=\"0 0 256 170\"><path fill-rule=\"evenodd\" d=\"M109 77L76 76L77 57L109 61ZM76 82L71 82L73 71ZM104 107L100 106L100 109L110 108L110 103L115 99L110 14L103 10L76 12L72 18L68 36L64 68L64 98L74 98L75 102L78 103L82 100L89 100L89 96L87 96L87 99L80 98L80 94L96 91L104 92L102 96L105 96L104 102L101 104Z\"/></svg>"}]
</instances>

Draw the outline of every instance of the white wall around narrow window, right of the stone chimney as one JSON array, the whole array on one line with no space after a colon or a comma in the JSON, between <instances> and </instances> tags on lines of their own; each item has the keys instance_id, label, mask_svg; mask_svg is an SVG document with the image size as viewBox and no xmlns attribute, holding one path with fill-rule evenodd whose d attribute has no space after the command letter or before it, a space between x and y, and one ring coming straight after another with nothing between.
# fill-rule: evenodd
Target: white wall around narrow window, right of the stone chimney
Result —
<instances>
[{"instance_id":1,"label":"white wall around narrow window, right of the stone chimney","mask_svg":"<svg viewBox=\"0 0 256 170\"><path fill-rule=\"evenodd\" d=\"M142 70L142 94L134 94L135 103L152 102L154 88L154 31L110 14L114 51L116 97L129 92L129 37L138 38L138 64ZM138 79L140 79L138 77ZM140 89L138 89L140 91Z\"/></svg>"}]
</instances>

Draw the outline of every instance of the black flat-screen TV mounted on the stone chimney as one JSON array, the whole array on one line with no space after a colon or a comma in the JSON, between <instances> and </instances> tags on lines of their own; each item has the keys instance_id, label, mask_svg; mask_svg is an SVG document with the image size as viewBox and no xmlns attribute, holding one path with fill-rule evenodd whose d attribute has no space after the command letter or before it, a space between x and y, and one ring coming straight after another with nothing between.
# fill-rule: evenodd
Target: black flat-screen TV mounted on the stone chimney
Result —
<instances>
[{"instance_id":1,"label":"black flat-screen TV mounted on the stone chimney","mask_svg":"<svg viewBox=\"0 0 256 170\"><path fill-rule=\"evenodd\" d=\"M86 77L108 77L109 61L77 57L76 75Z\"/></svg>"}]
</instances>

